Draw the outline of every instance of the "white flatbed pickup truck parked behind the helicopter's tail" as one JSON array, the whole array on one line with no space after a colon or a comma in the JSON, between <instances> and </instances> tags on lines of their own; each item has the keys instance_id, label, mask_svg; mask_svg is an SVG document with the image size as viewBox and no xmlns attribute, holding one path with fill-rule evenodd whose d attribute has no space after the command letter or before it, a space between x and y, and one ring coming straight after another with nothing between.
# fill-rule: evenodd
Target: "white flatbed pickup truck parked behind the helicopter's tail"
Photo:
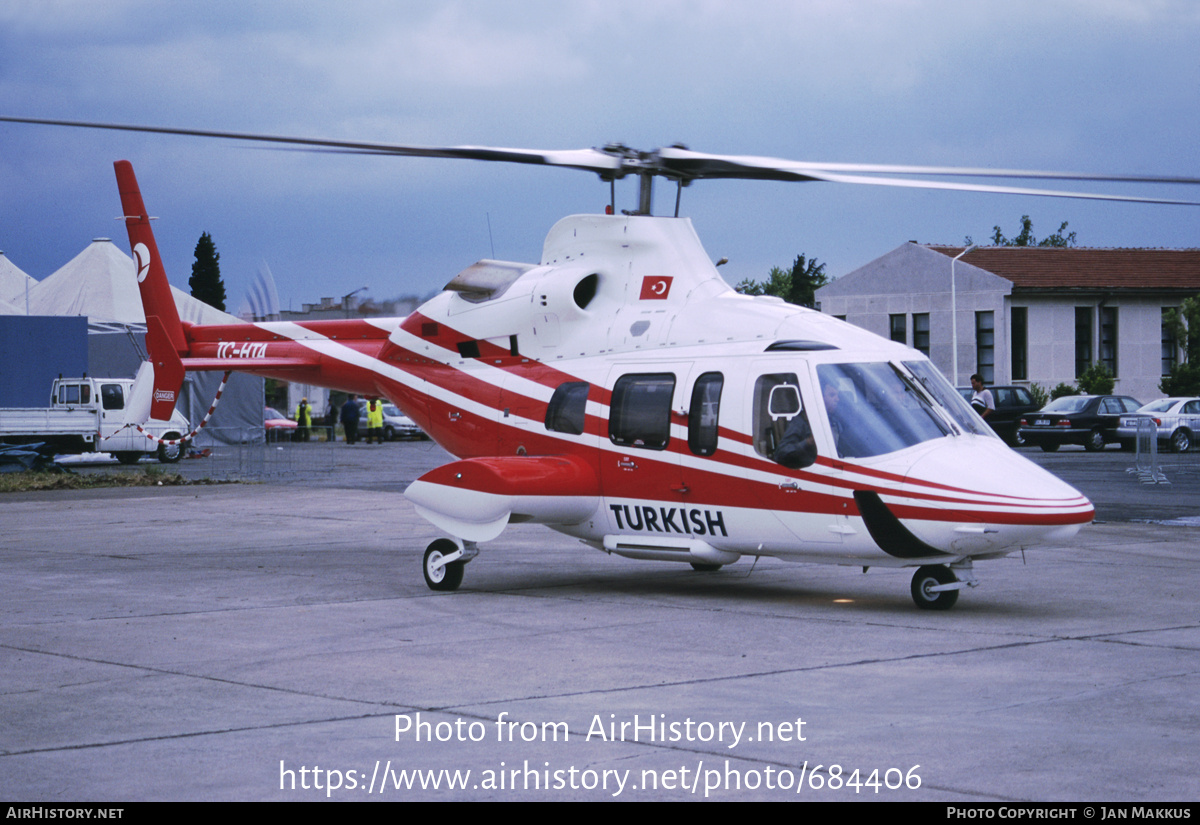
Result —
<instances>
[{"instance_id":1,"label":"white flatbed pickup truck parked behind the helicopter's tail","mask_svg":"<svg viewBox=\"0 0 1200 825\"><path fill-rule=\"evenodd\" d=\"M131 378L58 378L49 408L0 408L0 442L44 441L58 453L107 452L121 464L137 464L144 454L178 462L184 445L158 444L125 426ZM157 438L174 440L188 432L179 410L170 421L150 420L142 427Z\"/></svg>"}]
</instances>

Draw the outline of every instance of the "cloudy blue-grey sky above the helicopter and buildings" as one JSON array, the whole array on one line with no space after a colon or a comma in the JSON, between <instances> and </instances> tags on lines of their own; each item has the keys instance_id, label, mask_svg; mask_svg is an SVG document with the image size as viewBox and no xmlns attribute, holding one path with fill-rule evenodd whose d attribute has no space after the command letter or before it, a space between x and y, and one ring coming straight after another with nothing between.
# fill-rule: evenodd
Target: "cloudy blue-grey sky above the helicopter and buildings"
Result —
<instances>
[{"instance_id":1,"label":"cloudy blue-grey sky above the helicopter and buildings","mask_svg":"<svg viewBox=\"0 0 1200 825\"><path fill-rule=\"evenodd\" d=\"M1193 0L5 0L0 114L1200 176L1198 44ZM263 261L283 308L425 295L480 258L538 260L556 219L608 199L564 169L0 124L0 249L38 279L96 236L127 252L119 158L172 282L209 231L234 309ZM673 187L656 195L670 213ZM800 252L840 276L908 240L1015 235L1026 213L1080 246L1200 246L1200 207L832 183L700 181L682 213L732 283Z\"/></svg>"}]
</instances>

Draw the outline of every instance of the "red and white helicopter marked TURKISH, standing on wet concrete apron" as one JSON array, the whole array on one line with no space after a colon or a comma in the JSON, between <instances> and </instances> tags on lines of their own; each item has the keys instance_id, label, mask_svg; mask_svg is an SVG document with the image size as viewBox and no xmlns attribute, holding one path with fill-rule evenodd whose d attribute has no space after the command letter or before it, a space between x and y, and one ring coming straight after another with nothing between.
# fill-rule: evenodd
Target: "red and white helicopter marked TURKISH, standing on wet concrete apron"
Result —
<instances>
[{"instance_id":1,"label":"red and white helicopter marked TURKISH, standing on wet concrete apron","mask_svg":"<svg viewBox=\"0 0 1200 825\"><path fill-rule=\"evenodd\" d=\"M460 585L479 544L532 522L598 550L697 570L743 555L916 567L917 606L948 609L978 584L976 560L1061 541L1092 520L1084 495L1004 446L920 353L731 289L690 221L649 215L655 176L680 189L746 177L1115 200L1151 199L886 175L1200 182L35 122L640 177L636 211L563 218L540 260L481 260L407 318L194 326L176 314L133 168L115 164L148 325L139 417L169 417L185 371L386 397L458 457L406 492L446 536L424 556L434 590Z\"/></svg>"}]
</instances>

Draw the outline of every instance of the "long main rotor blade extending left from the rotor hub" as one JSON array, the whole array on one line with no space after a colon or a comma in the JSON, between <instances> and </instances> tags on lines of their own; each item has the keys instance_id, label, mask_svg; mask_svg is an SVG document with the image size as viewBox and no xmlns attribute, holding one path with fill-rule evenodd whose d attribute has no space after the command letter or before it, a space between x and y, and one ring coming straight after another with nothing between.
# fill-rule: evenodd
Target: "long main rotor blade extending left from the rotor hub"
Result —
<instances>
[{"instance_id":1,"label":"long main rotor blade extending left from the rotor hub","mask_svg":"<svg viewBox=\"0 0 1200 825\"><path fill-rule=\"evenodd\" d=\"M620 158L596 149L538 150L504 149L498 146L406 146L400 144L367 143L361 140L332 140L326 138L294 138L278 134L252 134L247 132L215 132L211 130L174 128L168 126L133 126L128 124L94 124L77 120L43 120L37 118L4 118L8 124L36 124L40 126L71 126L98 128L115 132L144 132L150 134L182 134L198 138L228 140L256 140L310 149L340 149L367 155L400 155L406 157L449 157L469 161L503 161L505 163L530 163L536 165L568 167L595 173L619 173Z\"/></svg>"}]
</instances>

